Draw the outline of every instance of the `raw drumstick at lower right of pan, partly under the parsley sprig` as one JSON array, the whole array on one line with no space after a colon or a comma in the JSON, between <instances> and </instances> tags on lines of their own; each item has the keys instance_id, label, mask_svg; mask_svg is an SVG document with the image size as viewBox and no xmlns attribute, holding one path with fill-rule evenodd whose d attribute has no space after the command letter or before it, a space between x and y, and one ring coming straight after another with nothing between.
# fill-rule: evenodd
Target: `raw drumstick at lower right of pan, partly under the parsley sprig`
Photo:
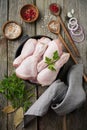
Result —
<instances>
[{"instance_id":1,"label":"raw drumstick at lower right of pan, partly under the parsley sprig","mask_svg":"<svg viewBox=\"0 0 87 130\"><path fill-rule=\"evenodd\" d=\"M42 86L50 85L57 77L60 68L68 61L70 57L69 53L63 53L58 61L55 63L56 71L52 71L50 69L45 68L37 75L37 81Z\"/></svg>"}]
</instances>

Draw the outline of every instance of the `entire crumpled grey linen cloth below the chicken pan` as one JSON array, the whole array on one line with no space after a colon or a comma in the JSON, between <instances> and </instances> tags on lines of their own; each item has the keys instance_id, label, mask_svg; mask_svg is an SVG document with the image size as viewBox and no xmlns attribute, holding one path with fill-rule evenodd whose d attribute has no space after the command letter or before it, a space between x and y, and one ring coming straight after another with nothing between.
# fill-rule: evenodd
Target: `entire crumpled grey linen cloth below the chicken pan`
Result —
<instances>
[{"instance_id":1,"label":"entire crumpled grey linen cloth below the chicken pan","mask_svg":"<svg viewBox=\"0 0 87 130\"><path fill-rule=\"evenodd\" d=\"M67 114L78 108L85 100L86 94L82 87L83 65L71 67L68 72L66 86L61 80L56 80L38 98L24 115L24 127L36 116L43 116L49 107L60 115Z\"/></svg>"}]
</instances>

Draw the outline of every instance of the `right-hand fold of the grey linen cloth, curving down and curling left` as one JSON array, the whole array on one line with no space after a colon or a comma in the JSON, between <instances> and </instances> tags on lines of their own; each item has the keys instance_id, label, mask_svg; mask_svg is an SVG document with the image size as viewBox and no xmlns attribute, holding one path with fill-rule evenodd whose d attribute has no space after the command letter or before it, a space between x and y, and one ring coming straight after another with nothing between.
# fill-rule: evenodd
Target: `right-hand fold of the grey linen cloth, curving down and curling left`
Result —
<instances>
[{"instance_id":1,"label":"right-hand fold of the grey linen cloth, curving down and curling left","mask_svg":"<svg viewBox=\"0 0 87 130\"><path fill-rule=\"evenodd\" d=\"M71 67L68 72L68 90L62 102L59 104L58 97L51 105L51 108L59 115L64 115L72 112L80 107L86 100L86 94L82 87L83 65L78 64Z\"/></svg>"}]
</instances>

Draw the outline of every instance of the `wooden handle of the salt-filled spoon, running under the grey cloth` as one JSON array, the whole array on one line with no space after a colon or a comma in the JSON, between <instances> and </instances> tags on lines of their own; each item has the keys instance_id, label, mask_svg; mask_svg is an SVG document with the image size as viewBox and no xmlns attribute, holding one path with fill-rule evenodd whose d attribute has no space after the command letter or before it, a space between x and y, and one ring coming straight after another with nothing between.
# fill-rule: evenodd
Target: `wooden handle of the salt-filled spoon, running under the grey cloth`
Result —
<instances>
[{"instance_id":1,"label":"wooden handle of the salt-filled spoon, running under the grey cloth","mask_svg":"<svg viewBox=\"0 0 87 130\"><path fill-rule=\"evenodd\" d=\"M75 62L75 64L78 64L77 60L74 58L71 50L69 49L69 47L67 46L66 42L64 41L63 37L59 34L59 39L61 40L61 42L63 43L64 47L66 48L66 50L70 53L71 58L73 59L73 61ZM87 82L87 76L85 74L83 74L83 78L85 80L85 82Z\"/></svg>"}]
</instances>

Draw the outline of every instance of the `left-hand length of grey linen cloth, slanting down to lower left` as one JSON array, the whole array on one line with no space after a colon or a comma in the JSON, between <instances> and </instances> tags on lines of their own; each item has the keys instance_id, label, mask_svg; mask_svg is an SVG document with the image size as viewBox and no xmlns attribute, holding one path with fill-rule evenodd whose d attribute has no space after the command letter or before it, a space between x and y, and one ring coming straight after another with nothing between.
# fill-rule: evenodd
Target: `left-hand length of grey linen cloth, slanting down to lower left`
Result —
<instances>
[{"instance_id":1,"label":"left-hand length of grey linen cloth, slanting down to lower left","mask_svg":"<svg viewBox=\"0 0 87 130\"><path fill-rule=\"evenodd\" d=\"M52 99L59 95L63 99L63 93L67 91L67 86L60 80L56 80L47 90L38 98L38 100L28 109L24 115L24 127L35 118L35 116L43 116L49 109Z\"/></svg>"}]
</instances>

